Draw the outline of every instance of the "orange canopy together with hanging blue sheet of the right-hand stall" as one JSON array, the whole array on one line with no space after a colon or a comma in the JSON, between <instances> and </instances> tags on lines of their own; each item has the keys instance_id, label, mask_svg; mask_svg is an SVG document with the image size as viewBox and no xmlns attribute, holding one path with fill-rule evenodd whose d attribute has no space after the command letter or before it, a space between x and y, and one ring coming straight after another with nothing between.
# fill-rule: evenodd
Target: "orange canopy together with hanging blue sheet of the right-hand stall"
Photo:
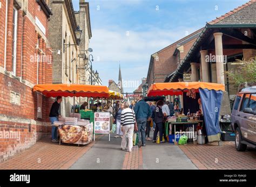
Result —
<instances>
[{"instance_id":1,"label":"orange canopy together with hanging blue sheet of the right-hand stall","mask_svg":"<svg viewBox=\"0 0 256 187\"><path fill-rule=\"evenodd\" d=\"M148 90L147 96L182 95L183 92L195 94L199 92L204 112L204 121L209 142L220 141L219 113L224 84L207 82L170 82L154 83ZM177 132L174 132L174 135Z\"/></svg>"}]
</instances>

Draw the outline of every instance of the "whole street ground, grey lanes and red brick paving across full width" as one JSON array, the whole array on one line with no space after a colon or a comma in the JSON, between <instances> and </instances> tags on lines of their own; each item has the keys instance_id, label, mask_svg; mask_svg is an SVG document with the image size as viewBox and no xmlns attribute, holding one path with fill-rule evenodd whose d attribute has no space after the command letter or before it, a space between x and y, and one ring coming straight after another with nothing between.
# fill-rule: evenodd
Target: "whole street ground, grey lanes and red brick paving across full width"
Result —
<instances>
[{"instance_id":1,"label":"whole street ground, grey lanes and red brick paving across full width","mask_svg":"<svg viewBox=\"0 0 256 187\"><path fill-rule=\"evenodd\" d=\"M129 153L113 136L109 141L108 135L96 135L96 141L79 147L45 137L0 163L0 169L256 169L256 149L237 152L234 142L174 146L146 141Z\"/></svg>"}]
</instances>

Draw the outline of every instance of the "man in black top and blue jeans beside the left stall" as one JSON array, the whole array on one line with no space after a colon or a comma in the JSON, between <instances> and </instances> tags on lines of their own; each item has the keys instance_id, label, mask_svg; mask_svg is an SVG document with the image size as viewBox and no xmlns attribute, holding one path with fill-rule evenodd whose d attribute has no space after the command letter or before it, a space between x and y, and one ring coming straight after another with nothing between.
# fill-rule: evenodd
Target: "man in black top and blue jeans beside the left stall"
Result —
<instances>
[{"instance_id":1,"label":"man in black top and blue jeans beside the left stall","mask_svg":"<svg viewBox=\"0 0 256 187\"><path fill-rule=\"evenodd\" d=\"M52 103L51 106L51 111L49 114L50 117L50 121L51 121L51 141L53 142L58 142L57 140L57 130L58 127L54 126L53 123L54 121L58 121L58 117L59 117L59 103L62 102L62 97L58 96L56 102Z\"/></svg>"}]
</instances>

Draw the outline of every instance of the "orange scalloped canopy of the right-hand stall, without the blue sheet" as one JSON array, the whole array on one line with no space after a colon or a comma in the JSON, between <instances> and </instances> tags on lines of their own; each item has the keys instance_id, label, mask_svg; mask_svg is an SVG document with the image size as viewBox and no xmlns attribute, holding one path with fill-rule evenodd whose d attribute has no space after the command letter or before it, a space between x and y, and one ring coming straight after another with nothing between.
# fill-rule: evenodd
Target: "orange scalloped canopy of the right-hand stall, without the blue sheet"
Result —
<instances>
[{"instance_id":1,"label":"orange scalloped canopy of the right-hand stall, without the blue sheet","mask_svg":"<svg viewBox=\"0 0 256 187\"><path fill-rule=\"evenodd\" d=\"M167 95L182 95L183 92L188 90L196 90L199 88L225 91L224 84L208 83L208 82L167 82L167 83L154 83L147 91L147 96L167 96Z\"/></svg>"}]
</instances>

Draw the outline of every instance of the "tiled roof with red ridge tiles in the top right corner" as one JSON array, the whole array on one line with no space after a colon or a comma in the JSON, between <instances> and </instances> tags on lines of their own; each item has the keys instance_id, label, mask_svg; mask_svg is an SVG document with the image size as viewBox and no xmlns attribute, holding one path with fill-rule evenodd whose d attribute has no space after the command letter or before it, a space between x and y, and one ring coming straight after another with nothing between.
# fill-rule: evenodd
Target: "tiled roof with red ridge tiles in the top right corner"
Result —
<instances>
[{"instance_id":1,"label":"tiled roof with red ridge tiles in the top right corner","mask_svg":"<svg viewBox=\"0 0 256 187\"><path fill-rule=\"evenodd\" d=\"M244 5L227 12L208 24L255 24L256 23L256 0L251 0Z\"/></svg>"}]
</instances>

